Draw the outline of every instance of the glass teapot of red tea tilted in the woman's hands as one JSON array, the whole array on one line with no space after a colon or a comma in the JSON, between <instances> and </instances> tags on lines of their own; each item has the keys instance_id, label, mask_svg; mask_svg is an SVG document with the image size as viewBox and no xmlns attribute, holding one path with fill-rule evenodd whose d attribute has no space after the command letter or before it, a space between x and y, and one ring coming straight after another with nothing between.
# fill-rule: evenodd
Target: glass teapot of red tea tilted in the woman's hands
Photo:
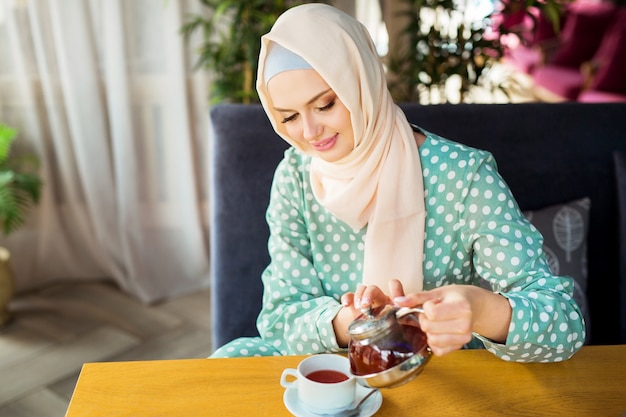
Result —
<instances>
[{"instance_id":1,"label":"glass teapot of red tea tilted in the woman's hands","mask_svg":"<svg viewBox=\"0 0 626 417\"><path fill-rule=\"evenodd\" d=\"M393 388L413 380L431 356L415 313L392 305L364 312L348 328L350 370L357 382Z\"/></svg>"}]
</instances>

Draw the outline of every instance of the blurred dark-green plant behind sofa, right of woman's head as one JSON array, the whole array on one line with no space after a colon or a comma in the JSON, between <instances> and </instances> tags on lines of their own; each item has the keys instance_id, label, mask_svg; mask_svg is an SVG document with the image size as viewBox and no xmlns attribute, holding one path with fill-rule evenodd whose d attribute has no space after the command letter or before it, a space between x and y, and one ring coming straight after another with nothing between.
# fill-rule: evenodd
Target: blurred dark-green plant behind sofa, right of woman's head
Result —
<instances>
[{"instance_id":1,"label":"blurred dark-green plant behind sofa, right of woman's head","mask_svg":"<svg viewBox=\"0 0 626 417\"><path fill-rule=\"evenodd\" d=\"M431 97L447 101L444 92L452 76L460 77L459 102L473 86L502 90L501 85L485 84L485 76L504 54L502 35L507 25L497 24L499 15L532 17L537 8L559 29L559 13L571 0L507 0L500 9L482 18L468 19L464 5L454 0L400 0L405 3L401 16L406 20L400 41L390 45L388 69L390 89L396 101L430 102ZM469 4L469 3L467 3ZM429 19L422 19L429 16ZM495 25L494 25L495 23Z\"/></svg>"}]
</instances>

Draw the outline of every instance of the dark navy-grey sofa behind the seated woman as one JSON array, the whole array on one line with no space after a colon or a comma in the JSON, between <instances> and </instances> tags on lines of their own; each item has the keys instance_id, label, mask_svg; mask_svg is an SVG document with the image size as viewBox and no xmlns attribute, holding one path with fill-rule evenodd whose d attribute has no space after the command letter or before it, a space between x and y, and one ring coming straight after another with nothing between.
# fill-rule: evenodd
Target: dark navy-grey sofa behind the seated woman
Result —
<instances>
[{"instance_id":1,"label":"dark navy-grey sofa behind the seated woman","mask_svg":"<svg viewBox=\"0 0 626 417\"><path fill-rule=\"evenodd\" d=\"M626 317L620 321L620 312L626 315L620 306L626 303L626 260L619 254L613 165L614 151L626 151L626 103L401 107L409 121L426 130L491 151L522 210L540 213L551 205L590 199L587 262L580 265L588 270L589 343L626 343ZM265 210L287 144L258 105L221 104L210 116L215 349L239 336L258 335L260 276L269 262Z\"/></svg>"}]
</instances>

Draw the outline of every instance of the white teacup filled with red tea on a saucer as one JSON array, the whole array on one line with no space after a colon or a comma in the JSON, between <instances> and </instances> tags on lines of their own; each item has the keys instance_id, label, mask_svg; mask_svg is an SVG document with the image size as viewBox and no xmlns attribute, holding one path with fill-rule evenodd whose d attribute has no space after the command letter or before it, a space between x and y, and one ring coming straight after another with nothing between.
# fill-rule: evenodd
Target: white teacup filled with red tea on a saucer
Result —
<instances>
[{"instance_id":1,"label":"white teacup filled with red tea on a saucer","mask_svg":"<svg viewBox=\"0 0 626 417\"><path fill-rule=\"evenodd\" d=\"M290 381L287 377L294 377ZM287 368L280 385L298 390L300 403L314 413L332 413L352 404L356 381L348 358L321 353L303 359L297 369Z\"/></svg>"}]
</instances>

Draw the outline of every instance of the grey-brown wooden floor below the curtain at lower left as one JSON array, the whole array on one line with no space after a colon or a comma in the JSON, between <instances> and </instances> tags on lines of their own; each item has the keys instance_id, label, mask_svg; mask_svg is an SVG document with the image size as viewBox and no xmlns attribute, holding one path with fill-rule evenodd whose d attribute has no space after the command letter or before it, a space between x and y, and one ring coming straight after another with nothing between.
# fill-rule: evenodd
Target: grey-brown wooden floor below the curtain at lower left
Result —
<instances>
[{"instance_id":1,"label":"grey-brown wooden floor below the curtain at lower left","mask_svg":"<svg viewBox=\"0 0 626 417\"><path fill-rule=\"evenodd\" d=\"M62 417L85 362L204 358L209 292L146 306L109 283L16 297L0 327L0 417Z\"/></svg>"}]
</instances>

